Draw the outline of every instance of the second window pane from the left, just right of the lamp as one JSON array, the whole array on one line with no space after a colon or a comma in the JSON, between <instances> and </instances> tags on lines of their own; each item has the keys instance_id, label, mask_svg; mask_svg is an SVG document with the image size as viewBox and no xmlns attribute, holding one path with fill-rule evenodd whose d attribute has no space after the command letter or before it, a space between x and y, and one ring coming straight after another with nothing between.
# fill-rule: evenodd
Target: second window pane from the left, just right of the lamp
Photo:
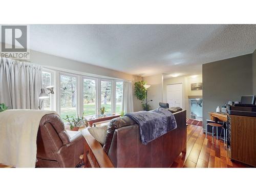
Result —
<instances>
[{"instance_id":1,"label":"second window pane from the left, just right of the lamp","mask_svg":"<svg viewBox=\"0 0 256 192\"><path fill-rule=\"evenodd\" d=\"M77 78L60 75L60 117L76 116L76 83Z\"/></svg>"}]
</instances>

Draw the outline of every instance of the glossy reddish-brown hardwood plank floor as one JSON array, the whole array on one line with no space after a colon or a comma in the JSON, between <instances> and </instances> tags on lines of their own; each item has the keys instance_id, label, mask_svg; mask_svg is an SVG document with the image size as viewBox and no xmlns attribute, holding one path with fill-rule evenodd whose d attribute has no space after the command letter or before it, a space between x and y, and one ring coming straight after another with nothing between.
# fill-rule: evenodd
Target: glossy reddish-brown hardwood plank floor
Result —
<instances>
[{"instance_id":1,"label":"glossy reddish-brown hardwood plank floor","mask_svg":"<svg viewBox=\"0 0 256 192\"><path fill-rule=\"evenodd\" d=\"M0 164L0 168L8 168ZM222 139L214 139L210 135L203 133L202 126L191 125L187 126L187 152L180 154L171 167L186 167L186 168L214 168L214 167L250 167L243 163L232 162L227 157L226 146Z\"/></svg>"}]
</instances>

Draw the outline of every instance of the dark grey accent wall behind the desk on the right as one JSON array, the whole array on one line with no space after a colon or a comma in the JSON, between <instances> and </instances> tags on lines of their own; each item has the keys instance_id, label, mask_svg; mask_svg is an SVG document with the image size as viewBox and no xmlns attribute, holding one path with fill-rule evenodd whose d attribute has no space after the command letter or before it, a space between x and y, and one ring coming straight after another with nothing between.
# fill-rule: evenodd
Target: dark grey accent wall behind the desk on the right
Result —
<instances>
[{"instance_id":1,"label":"dark grey accent wall behind the desk on the right","mask_svg":"<svg viewBox=\"0 0 256 192\"><path fill-rule=\"evenodd\" d=\"M252 54L203 65L203 120L224 103L252 94Z\"/></svg>"}]
</instances>

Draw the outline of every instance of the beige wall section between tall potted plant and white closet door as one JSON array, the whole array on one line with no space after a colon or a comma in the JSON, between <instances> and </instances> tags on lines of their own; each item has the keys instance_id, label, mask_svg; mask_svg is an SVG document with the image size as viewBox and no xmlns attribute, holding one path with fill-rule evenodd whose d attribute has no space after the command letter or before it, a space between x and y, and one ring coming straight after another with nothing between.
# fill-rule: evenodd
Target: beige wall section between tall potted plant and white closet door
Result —
<instances>
[{"instance_id":1,"label":"beige wall section between tall potted plant and white closet door","mask_svg":"<svg viewBox=\"0 0 256 192\"><path fill-rule=\"evenodd\" d=\"M163 74L152 75L143 77L143 80L151 87L147 91L147 100L153 100L148 102L152 109L159 107L159 102L163 102Z\"/></svg>"}]
</instances>

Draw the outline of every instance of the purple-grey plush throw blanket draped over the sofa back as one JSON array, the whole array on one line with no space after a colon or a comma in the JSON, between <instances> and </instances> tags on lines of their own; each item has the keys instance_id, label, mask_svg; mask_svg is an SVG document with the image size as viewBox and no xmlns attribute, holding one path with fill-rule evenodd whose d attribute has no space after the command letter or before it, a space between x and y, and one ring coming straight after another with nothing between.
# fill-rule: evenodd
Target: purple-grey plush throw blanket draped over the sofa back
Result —
<instances>
[{"instance_id":1,"label":"purple-grey plush throw blanket draped over the sofa back","mask_svg":"<svg viewBox=\"0 0 256 192\"><path fill-rule=\"evenodd\" d=\"M174 115L163 108L127 113L125 116L130 117L139 124L140 137L143 144L147 144L177 128Z\"/></svg>"}]
</instances>

